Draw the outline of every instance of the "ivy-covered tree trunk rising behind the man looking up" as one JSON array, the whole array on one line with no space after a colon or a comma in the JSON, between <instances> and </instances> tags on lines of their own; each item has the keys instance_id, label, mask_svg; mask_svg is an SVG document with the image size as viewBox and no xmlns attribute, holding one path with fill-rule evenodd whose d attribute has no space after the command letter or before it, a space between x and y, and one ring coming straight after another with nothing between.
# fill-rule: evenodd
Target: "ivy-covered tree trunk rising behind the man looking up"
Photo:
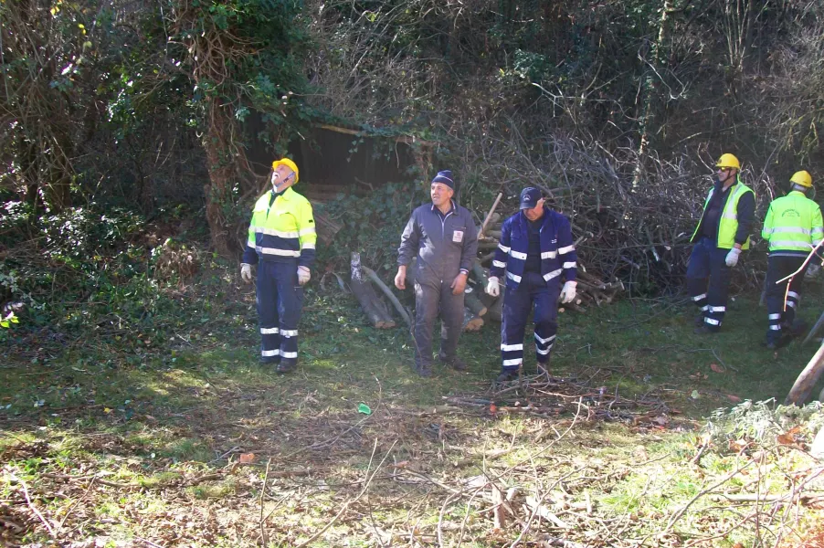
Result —
<instances>
[{"instance_id":1,"label":"ivy-covered tree trunk rising behind the man looking up","mask_svg":"<svg viewBox=\"0 0 824 548\"><path fill-rule=\"evenodd\" d=\"M238 205L257 191L241 123L265 113L272 153L284 151L305 119L302 55L308 42L298 0L186 0L174 6L175 42L185 45L209 170L206 218L217 251L231 256L247 215ZM240 237L240 241L245 238Z\"/></svg>"}]
</instances>

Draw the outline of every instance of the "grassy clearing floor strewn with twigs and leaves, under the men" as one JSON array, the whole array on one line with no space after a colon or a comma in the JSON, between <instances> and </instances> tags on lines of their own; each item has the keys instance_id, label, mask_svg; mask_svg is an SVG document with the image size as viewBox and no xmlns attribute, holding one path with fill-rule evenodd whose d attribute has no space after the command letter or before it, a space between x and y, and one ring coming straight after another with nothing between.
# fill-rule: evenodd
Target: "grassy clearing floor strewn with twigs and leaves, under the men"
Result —
<instances>
[{"instance_id":1,"label":"grassy clearing floor strewn with twigs and leaves, under the men","mask_svg":"<svg viewBox=\"0 0 824 548\"><path fill-rule=\"evenodd\" d=\"M732 547L815 537L824 485L804 448L821 412L745 401L783 401L814 348L762 349L766 310L755 300L731 302L712 337L693 335L692 310L671 300L562 314L555 381L496 392L496 324L463 337L469 372L421 379L404 330L376 332L348 299L315 294L301 367L280 376L257 364L248 290L217 284L180 292L190 317L163 341L114 330L9 347L0 543ZM810 300L803 315L815 321L821 301ZM543 406L523 409L538 396ZM618 398L634 404L608 406ZM764 501L793 492L813 498Z\"/></svg>"}]
</instances>

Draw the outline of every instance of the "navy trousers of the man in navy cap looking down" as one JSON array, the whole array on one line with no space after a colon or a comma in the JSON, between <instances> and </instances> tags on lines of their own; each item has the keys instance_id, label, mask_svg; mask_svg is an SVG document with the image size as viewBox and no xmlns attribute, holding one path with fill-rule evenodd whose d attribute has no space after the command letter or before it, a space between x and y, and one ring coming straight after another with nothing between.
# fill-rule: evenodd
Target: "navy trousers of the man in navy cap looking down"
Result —
<instances>
[{"instance_id":1,"label":"navy trousers of the man in navy cap looking down","mask_svg":"<svg viewBox=\"0 0 824 548\"><path fill-rule=\"evenodd\" d=\"M538 272L524 273L518 288L506 289L501 324L503 370L517 371L523 364L523 333L534 306L535 357L538 364L549 362L549 353L558 331L558 279L545 281Z\"/></svg>"}]
</instances>

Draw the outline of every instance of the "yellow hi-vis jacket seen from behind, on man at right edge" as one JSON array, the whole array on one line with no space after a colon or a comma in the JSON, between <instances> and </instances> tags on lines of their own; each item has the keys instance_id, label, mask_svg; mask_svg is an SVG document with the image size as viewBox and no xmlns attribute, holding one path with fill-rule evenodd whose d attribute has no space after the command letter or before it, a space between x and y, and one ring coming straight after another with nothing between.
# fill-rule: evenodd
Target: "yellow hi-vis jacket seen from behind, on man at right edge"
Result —
<instances>
[{"instance_id":1,"label":"yellow hi-vis jacket seen from behind, on man at right edge","mask_svg":"<svg viewBox=\"0 0 824 548\"><path fill-rule=\"evenodd\" d=\"M761 237L769 241L771 256L807 256L824 239L821 208L794 190L770 204Z\"/></svg>"}]
</instances>

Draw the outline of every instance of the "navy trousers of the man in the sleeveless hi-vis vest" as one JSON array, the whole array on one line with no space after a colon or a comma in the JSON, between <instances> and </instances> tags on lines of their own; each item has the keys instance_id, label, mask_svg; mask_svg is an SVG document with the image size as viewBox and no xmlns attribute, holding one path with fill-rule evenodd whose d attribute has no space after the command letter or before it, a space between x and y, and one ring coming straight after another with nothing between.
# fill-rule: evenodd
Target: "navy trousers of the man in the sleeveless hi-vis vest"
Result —
<instances>
[{"instance_id":1,"label":"navy trousers of the man in the sleeveless hi-vis vest","mask_svg":"<svg viewBox=\"0 0 824 548\"><path fill-rule=\"evenodd\" d=\"M687 290L692 302L703 311L704 324L718 331L727 310L730 291L730 268L726 266L729 249L717 248L708 237L698 240L692 248L687 267Z\"/></svg>"}]
</instances>

